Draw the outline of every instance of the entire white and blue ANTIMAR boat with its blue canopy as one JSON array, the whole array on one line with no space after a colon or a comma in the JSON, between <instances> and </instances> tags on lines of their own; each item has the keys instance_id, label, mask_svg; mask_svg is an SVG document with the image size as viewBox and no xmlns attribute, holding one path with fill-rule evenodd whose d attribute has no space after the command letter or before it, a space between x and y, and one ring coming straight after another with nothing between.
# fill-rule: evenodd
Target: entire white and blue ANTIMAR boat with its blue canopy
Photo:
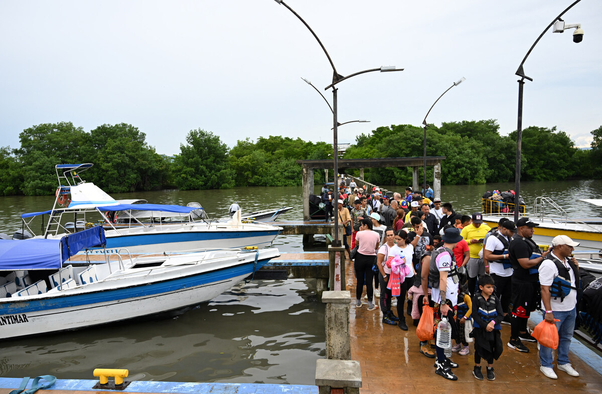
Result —
<instances>
[{"instance_id":1,"label":"entire white and blue ANTIMAR boat with its blue canopy","mask_svg":"<svg viewBox=\"0 0 602 394\"><path fill-rule=\"evenodd\" d=\"M0 330L4 339L75 330L158 313L181 312L211 300L252 275L278 249L228 249L65 262L102 247L102 226L60 239L0 240ZM45 270L45 271L40 271ZM34 282L31 278L40 279Z\"/></svg>"}]
</instances>

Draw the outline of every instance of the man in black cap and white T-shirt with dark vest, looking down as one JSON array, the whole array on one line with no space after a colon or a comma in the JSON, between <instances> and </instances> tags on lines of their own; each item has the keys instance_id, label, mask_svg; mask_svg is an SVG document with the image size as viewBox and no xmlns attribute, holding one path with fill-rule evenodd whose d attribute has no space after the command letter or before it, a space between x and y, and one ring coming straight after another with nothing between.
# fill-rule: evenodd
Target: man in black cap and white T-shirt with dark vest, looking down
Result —
<instances>
[{"instance_id":1,"label":"man in black cap and white T-shirt with dark vest, looking down","mask_svg":"<svg viewBox=\"0 0 602 394\"><path fill-rule=\"evenodd\" d=\"M512 298L512 265L508 259L508 247L517 226L512 220L504 220L496 232L490 232L486 237L483 248L483 260L485 261L485 272L491 274L495 281L494 293L501 300L501 309L504 311L504 321L511 324L510 316L507 316Z\"/></svg>"}]
</instances>

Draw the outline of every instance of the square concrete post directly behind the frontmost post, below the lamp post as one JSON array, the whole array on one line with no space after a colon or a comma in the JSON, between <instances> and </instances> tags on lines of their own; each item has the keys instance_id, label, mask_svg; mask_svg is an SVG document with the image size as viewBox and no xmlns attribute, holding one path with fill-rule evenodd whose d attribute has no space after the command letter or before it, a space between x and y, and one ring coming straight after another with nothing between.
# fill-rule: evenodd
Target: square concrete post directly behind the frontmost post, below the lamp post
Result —
<instances>
[{"instance_id":1,"label":"square concrete post directly behind the frontmost post, below the lamp post","mask_svg":"<svg viewBox=\"0 0 602 394\"><path fill-rule=\"evenodd\" d=\"M326 304L324 313L326 359L350 360L349 307L351 294L348 291L325 291L322 293L322 302ZM318 384L318 386L320 385Z\"/></svg>"}]
</instances>

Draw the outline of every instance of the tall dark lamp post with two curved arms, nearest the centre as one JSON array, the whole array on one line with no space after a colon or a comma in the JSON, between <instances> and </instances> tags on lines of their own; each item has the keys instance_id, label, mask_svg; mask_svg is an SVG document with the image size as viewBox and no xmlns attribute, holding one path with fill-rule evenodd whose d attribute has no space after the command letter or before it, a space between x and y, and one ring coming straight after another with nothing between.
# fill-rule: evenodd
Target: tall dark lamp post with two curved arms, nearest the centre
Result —
<instances>
[{"instance_id":1,"label":"tall dark lamp post with two curved arms, nearest the centre","mask_svg":"<svg viewBox=\"0 0 602 394\"><path fill-rule=\"evenodd\" d=\"M364 73L368 73L368 72L373 72L373 71L380 71L380 72L390 72L390 71L403 71L403 69L396 69L395 66L383 66L383 67L379 67L378 69L370 69L370 70L364 70L364 71L360 71L360 72L356 72L347 76L343 76L340 75L337 72L337 68L335 67L335 64L332 63L332 59L330 58L330 55L328 54L328 52L326 51L326 48L324 48L324 45L322 44L322 42L320 41L320 38L318 38L318 36L315 34L315 32L311 29L311 27L309 27L309 25L307 24L307 22L305 22L305 20L303 20L302 17L299 16L299 14L297 14L293 8L289 7L288 4L286 4L284 1L282 0L274 0L275 2L277 2L278 4L282 4L284 5L284 7L287 7L289 11L291 11L291 13L294 14L294 16L297 17L297 19L299 19L303 25L305 25L306 28L308 28L308 30L311 32L312 35L314 35L315 40L318 42L318 44L320 44L320 47L322 48L322 51L324 51L324 54L326 55L326 57L328 58L328 61L330 62L330 67L332 67L332 84L328 85L326 88L324 88L324 90L327 90L329 88L332 88L332 107L330 107L330 109L332 109L332 117L333 117L333 147L334 147L334 173L335 173L335 177L337 178L337 182L338 182L338 126L339 125L343 125L343 123L338 123L337 120L337 115L338 115L338 108L337 108L337 88L335 87L336 84L338 84L341 81L344 81L345 79L349 79L352 76L356 76L359 74L364 74ZM317 90L317 89L316 89ZM326 100L326 98L324 97L324 100ZM327 100L326 100L327 102ZM329 104L330 106L330 104ZM348 123L348 122L346 122ZM335 188L335 198L334 200L337 201L338 200L338 185ZM341 240L339 239L339 235L338 235L338 216L335 215L335 236L334 236L334 240L332 241L332 245L334 247L340 247L341 246Z\"/></svg>"}]
</instances>

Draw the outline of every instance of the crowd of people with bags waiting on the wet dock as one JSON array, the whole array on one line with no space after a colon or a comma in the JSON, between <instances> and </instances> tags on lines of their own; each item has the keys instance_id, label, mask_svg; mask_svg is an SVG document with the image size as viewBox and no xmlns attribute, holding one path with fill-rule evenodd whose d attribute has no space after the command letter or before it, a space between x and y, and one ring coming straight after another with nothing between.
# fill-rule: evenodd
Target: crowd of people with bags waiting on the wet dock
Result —
<instances>
[{"instance_id":1,"label":"crowd of people with bags waiting on the wet dock","mask_svg":"<svg viewBox=\"0 0 602 394\"><path fill-rule=\"evenodd\" d=\"M557 369L579 376L568 354L579 289L579 264L572 257L578 242L559 235L549 248L538 245L532 239L538 224L527 217L517 223L502 218L491 228L480 212L458 214L428 187L424 194L408 187L403 195L386 195L377 187L350 186L355 187L341 185L335 214L346 229L344 244L354 260L356 307L364 305L365 288L368 310L380 308L383 325L408 330L406 316L418 325L423 304L429 304L435 337L438 322L446 319L456 342L452 352L460 356L470 353L465 334L470 321L473 375L478 380L495 380L494 360L504 348L532 350L526 342L536 339L527 330L527 320L541 308L544 320L556 324L559 333ZM510 325L506 346L501 324ZM420 342L419 348L436 359L437 375L458 379L453 373L458 363L434 340ZM540 371L556 379L552 349L538 348ZM487 363L484 374L481 359Z\"/></svg>"}]
</instances>

